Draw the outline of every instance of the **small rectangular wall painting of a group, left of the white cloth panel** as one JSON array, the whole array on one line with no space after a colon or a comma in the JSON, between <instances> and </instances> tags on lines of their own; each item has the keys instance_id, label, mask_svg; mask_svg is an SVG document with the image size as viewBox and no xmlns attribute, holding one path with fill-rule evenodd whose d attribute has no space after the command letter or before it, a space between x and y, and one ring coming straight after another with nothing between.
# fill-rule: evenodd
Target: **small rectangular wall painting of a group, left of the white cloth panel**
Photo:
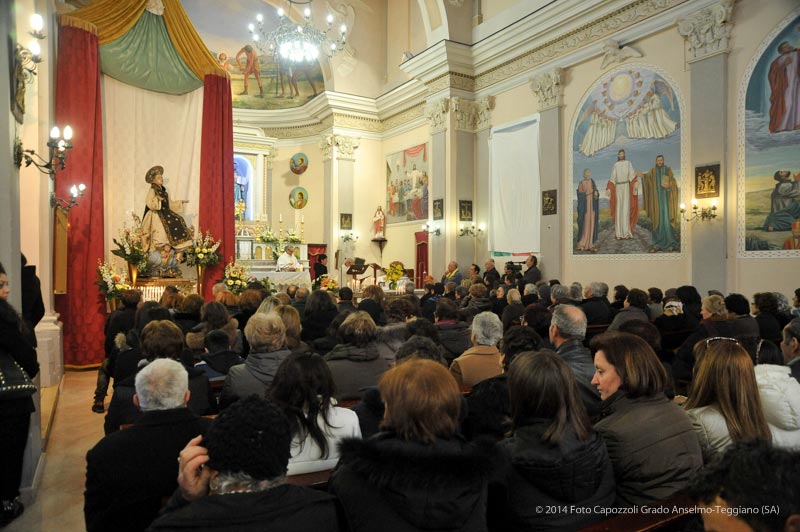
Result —
<instances>
[{"instance_id":1,"label":"small rectangular wall painting of a group, left of the white cloth panel","mask_svg":"<svg viewBox=\"0 0 800 532\"><path fill-rule=\"evenodd\" d=\"M386 157L386 222L428 219L428 145Z\"/></svg>"}]
</instances>

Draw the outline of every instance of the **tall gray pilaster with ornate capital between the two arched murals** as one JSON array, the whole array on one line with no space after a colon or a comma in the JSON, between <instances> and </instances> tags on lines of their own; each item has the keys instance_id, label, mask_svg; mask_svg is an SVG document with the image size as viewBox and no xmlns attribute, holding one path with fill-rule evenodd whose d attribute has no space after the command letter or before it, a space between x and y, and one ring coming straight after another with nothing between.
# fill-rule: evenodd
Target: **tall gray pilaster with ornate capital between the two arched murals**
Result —
<instances>
[{"instance_id":1,"label":"tall gray pilaster with ornate capital between the two arched murals","mask_svg":"<svg viewBox=\"0 0 800 532\"><path fill-rule=\"evenodd\" d=\"M728 159L728 52L733 4L734 0L723 0L678 22L678 32L689 48L691 167L720 163L719 204L727 205L717 210L714 220L695 220L686 225L689 235L684 242L690 246L692 257L690 282L701 294L710 289L726 290L728 279L725 228L728 212L731 216L735 212L731 211L735 205L735 176L728 175L725 164ZM694 186L694 175L688 182L687 186ZM731 201L726 202L729 190ZM710 200L700 200L700 203L701 207L708 206Z\"/></svg>"}]
</instances>

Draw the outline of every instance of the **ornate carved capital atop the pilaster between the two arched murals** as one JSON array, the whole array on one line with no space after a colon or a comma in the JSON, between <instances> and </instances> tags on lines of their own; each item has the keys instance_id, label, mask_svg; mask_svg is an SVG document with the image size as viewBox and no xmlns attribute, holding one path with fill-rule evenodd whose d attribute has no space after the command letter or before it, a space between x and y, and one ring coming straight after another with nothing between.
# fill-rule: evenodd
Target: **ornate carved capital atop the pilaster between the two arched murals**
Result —
<instances>
[{"instance_id":1,"label":"ornate carved capital atop the pilaster between the two arched murals","mask_svg":"<svg viewBox=\"0 0 800 532\"><path fill-rule=\"evenodd\" d=\"M734 3L720 0L678 21L678 33L689 43L690 62L729 51Z\"/></svg>"}]
</instances>

